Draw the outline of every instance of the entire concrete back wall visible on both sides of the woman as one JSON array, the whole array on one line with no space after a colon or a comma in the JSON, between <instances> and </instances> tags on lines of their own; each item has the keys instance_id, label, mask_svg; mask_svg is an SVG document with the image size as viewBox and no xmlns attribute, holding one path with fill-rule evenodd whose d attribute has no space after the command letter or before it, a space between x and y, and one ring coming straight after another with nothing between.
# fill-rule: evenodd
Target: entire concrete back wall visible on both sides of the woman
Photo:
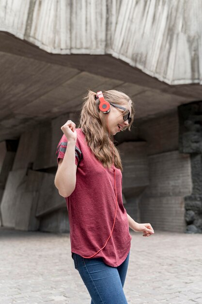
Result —
<instances>
[{"instance_id":1,"label":"entire concrete back wall visible on both sides of the woman","mask_svg":"<svg viewBox=\"0 0 202 304\"><path fill-rule=\"evenodd\" d=\"M54 186L56 147L62 137L61 126L68 119L78 125L78 113L69 113L21 135L1 200L4 226L69 231L65 200ZM177 113L135 123L135 135L130 135L135 141L132 137L127 141L125 133L125 141L118 145L124 167L124 207L138 222L183 232L184 197L191 193L192 181L189 155L178 152ZM1 149L2 167L4 144Z\"/></svg>"}]
</instances>

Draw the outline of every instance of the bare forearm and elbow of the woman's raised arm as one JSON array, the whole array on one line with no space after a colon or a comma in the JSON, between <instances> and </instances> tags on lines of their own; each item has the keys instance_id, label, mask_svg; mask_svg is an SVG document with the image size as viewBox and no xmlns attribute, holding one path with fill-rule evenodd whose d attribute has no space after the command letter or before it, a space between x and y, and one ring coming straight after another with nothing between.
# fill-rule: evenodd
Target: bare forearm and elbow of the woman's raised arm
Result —
<instances>
[{"instance_id":1,"label":"bare forearm and elbow of the woman's raised arm","mask_svg":"<svg viewBox=\"0 0 202 304\"><path fill-rule=\"evenodd\" d=\"M55 176L55 186L63 197L70 196L76 186L75 146L75 141L68 141L64 158L60 159Z\"/></svg>"}]
</instances>

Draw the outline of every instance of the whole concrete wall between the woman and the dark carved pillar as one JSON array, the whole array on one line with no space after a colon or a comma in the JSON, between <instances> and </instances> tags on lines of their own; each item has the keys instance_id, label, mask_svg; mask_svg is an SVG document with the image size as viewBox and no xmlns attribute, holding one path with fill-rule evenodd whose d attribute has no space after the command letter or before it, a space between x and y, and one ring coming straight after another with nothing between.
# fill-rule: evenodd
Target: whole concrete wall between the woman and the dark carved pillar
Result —
<instances>
[{"instance_id":1,"label":"whole concrete wall between the woman and the dark carved pillar","mask_svg":"<svg viewBox=\"0 0 202 304\"><path fill-rule=\"evenodd\" d=\"M192 191L192 176L189 154L178 151L177 110L135 120L132 132L118 134L116 140L121 142L128 214L138 222L150 222L155 229L184 232L185 197ZM142 186L139 193L138 184Z\"/></svg>"}]
</instances>

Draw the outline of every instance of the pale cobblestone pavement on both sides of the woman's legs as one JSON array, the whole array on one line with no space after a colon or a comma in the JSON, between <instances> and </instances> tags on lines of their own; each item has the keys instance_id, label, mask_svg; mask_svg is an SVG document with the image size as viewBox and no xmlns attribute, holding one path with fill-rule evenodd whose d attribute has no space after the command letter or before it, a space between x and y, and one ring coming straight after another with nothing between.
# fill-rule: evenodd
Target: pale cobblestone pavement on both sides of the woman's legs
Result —
<instances>
[{"instance_id":1,"label":"pale cobblestone pavement on both sides of the woman's legs","mask_svg":"<svg viewBox=\"0 0 202 304\"><path fill-rule=\"evenodd\" d=\"M130 304L202 303L202 235L130 231ZM69 234L0 228L0 304L90 304Z\"/></svg>"}]
</instances>

